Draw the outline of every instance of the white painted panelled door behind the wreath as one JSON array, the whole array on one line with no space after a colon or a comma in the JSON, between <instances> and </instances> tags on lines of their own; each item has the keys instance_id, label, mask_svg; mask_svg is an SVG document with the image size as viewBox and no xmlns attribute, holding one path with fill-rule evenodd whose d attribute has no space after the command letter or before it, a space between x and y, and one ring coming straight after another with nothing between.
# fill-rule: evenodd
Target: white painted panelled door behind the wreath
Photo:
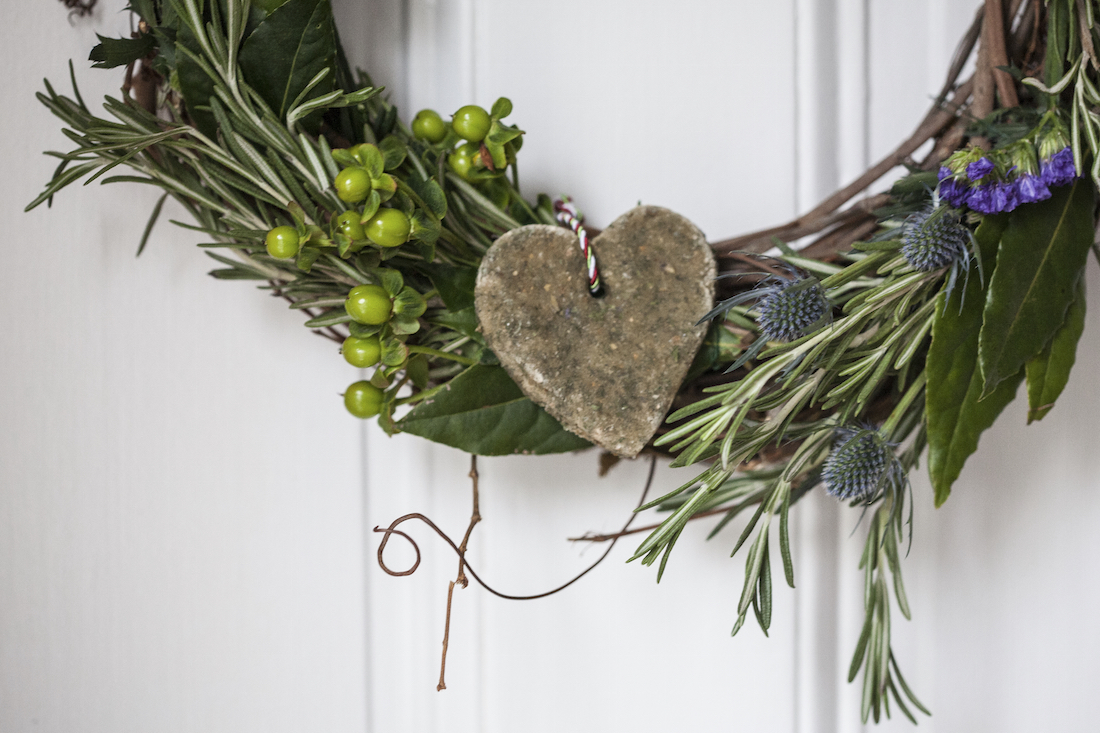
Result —
<instances>
[{"instance_id":1,"label":"white painted panelled door behind the wreath","mask_svg":"<svg viewBox=\"0 0 1100 733\"><path fill-rule=\"evenodd\" d=\"M389 578L370 529L420 511L461 535L468 459L361 431L336 396L354 375L334 347L246 284L207 277L190 233L163 226L134 260L152 190L79 188L21 214L52 169L38 151L66 144L32 100L37 79L65 86L65 59L127 21L121 0L73 26L59 3L18 4L0 31L0 731L861 729L844 681L860 540L823 496L792 513L799 590L777 587L770 639L751 620L728 638L736 529L706 544L697 526L660 586L622 565L627 544L551 599L457 591L437 693L454 558L418 529L420 570ZM528 194L569 193L596 226L661 204L718 239L789 218L909 134L975 4L337 12L353 61L406 117L509 96ZM89 101L118 85L79 78ZM1058 407L1026 431L1010 408L944 510L914 474L914 620L895 614L894 635L935 713L922 730L1094 727L1097 319ZM486 580L538 592L596 556L564 538L617 528L646 467L597 480L595 460L482 459L470 557ZM676 473L662 467L654 491ZM410 555L395 543L388 558Z\"/></svg>"}]
</instances>

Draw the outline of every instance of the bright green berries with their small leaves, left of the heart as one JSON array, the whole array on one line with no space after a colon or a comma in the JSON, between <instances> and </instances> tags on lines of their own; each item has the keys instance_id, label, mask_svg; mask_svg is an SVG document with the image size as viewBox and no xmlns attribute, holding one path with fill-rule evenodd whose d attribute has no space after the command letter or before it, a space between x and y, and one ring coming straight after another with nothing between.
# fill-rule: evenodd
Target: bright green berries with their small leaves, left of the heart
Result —
<instances>
[{"instance_id":1,"label":"bright green berries with their small leaves, left of the heart","mask_svg":"<svg viewBox=\"0 0 1100 733\"><path fill-rule=\"evenodd\" d=\"M341 277L361 283L343 292L342 309L332 307L340 299L330 286L311 291L323 293L316 302L330 309L307 322L315 328L342 325L349 331L341 344L344 360L356 369L373 369L370 379L344 392L344 406L352 415L378 415L383 427L392 426L396 405L410 398L398 400L404 385L425 390L429 374L446 379L479 358L484 344L472 330L475 317L470 325L464 314L452 318L454 322L438 314L426 316L428 298L433 296L436 303L441 296L447 307L459 302L460 310L468 307L462 298L472 297L468 275L477 255L466 242L490 241L468 238L470 226L479 225L466 211L455 215L461 214L462 221L444 229L449 206L441 183L460 178L459 186L473 186L484 197L480 200L488 199L497 210L525 221L541 220L505 177L524 134L501 121L510 112L512 102L503 98L490 111L468 105L450 122L421 110L406 131L396 123L392 108L383 109L381 122L364 128L372 142L330 151L336 164L329 168L334 174L332 188L321 196L299 196L286 207L289 222L266 232L271 258L293 261L289 266L306 274L316 267L331 278L338 271ZM448 180L437 180L448 169ZM306 208L307 200L317 208ZM305 298L302 307L310 303ZM428 330L420 332L422 326ZM410 343L418 332L418 342Z\"/></svg>"}]
</instances>

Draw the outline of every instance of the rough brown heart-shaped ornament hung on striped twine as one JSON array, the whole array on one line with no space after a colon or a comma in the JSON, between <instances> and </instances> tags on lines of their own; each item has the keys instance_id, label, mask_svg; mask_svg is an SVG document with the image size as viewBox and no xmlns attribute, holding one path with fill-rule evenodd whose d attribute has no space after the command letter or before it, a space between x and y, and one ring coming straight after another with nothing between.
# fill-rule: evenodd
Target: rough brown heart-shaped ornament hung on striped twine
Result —
<instances>
[{"instance_id":1,"label":"rough brown heart-shaped ornament hung on striped twine","mask_svg":"<svg viewBox=\"0 0 1100 733\"><path fill-rule=\"evenodd\" d=\"M576 236L531 225L504 234L477 271L482 332L528 397L624 458L646 446L706 335L714 253L684 217L639 206L592 242L605 294L588 293Z\"/></svg>"}]
</instances>

